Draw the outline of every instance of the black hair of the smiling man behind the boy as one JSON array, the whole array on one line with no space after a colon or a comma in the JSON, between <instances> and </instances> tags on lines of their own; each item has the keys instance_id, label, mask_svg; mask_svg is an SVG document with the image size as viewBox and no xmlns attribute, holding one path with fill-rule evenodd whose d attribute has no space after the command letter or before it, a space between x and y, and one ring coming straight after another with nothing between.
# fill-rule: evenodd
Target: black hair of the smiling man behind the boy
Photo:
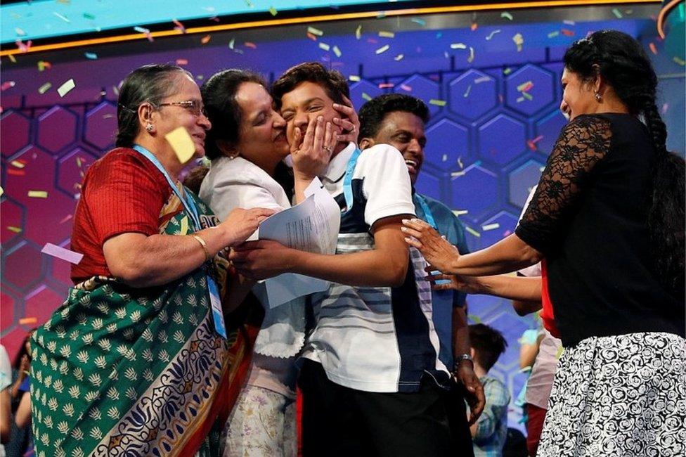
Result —
<instances>
[{"instance_id":1,"label":"black hair of the smiling man behind the boy","mask_svg":"<svg viewBox=\"0 0 686 457\"><path fill-rule=\"evenodd\" d=\"M394 111L409 112L425 124L429 122L429 108L419 98L406 94L383 94L372 98L360 108L360 138L374 138L381 129L384 117Z\"/></svg>"}]
</instances>

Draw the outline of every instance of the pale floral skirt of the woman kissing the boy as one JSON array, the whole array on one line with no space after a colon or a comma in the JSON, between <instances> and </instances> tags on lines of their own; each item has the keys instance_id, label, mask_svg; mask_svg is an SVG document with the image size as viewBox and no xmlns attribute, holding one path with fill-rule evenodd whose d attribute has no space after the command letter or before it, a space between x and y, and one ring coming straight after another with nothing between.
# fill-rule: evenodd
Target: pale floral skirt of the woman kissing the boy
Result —
<instances>
[{"instance_id":1,"label":"pale floral skirt of the woman kissing the boy","mask_svg":"<svg viewBox=\"0 0 686 457\"><path fill-rule=\"evenodd\" d=\"M247 385L226 423L224 457L297 456L295 401Z\"/></svg>"}]
</instances>

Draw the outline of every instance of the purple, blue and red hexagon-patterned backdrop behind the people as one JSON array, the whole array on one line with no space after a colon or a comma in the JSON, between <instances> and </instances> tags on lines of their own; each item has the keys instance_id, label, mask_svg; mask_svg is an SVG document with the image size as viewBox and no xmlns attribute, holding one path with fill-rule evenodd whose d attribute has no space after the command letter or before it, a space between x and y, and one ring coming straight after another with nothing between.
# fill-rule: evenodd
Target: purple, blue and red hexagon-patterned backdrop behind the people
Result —
<instances>
[{"instance_id":1,"label":"purple, blue and red hexagon-patterned backdrop behind the people","mask_svg":"<svg viewBox=\"0 0 686 457\"><path fill-rule=\"evenodd\" d=\"M577 26L577 37L601 28L597 22ZM602 26L636 36L645 23L608 21ZM273 79L295 63L323 60L344 75L359 76L351 78L351 98L357 108L389 91L422 98L432 120L426 129L428 144L418 191L460 214L470 248L477 250L512 233L564 125L558 110L560 60L571 39L550 44L545 36L552 27L559 29L559 24L518 25L516 29L484 26L477 32L468 28L396 32L392 53L381 56L375 52L383 44L376 40L381 39L361 46L350 33L328 38L339 49L351 50L338 59L309 39L293 39L259 43L259 53L252 52L252 46L242 46L238 53L226 44L182 51L153 48L138 55L122 52L124 56L93 60L88 66L82 61L55 63L44 74L35 69L6 72L5 66L5 79L21 84L4 94L0 117L2 344L13 355L26 331L44 323L65 297L71 284L70 265L41 255L40 250L45 243L69 247L82 176L113 146L113 86L134 67L183 58L202 83L202 75L223 67L257 68ZM534 43L519 52L512 43L518 32ZM477 35L491 46L490 51L477 48L474 55L467 46L450 46L470 44ZM488 36L493 40L484 41ZM432 42L436 46L429 45ZM404 60L398 58L402 55ZM76 79L77 89L65 98L58 98L54 91L37 94L46 80L56 86L69 77ZM472 321L498 328L510 343L493 372L510 387L514 402L525 379L519 373L517 339L524 330L536 328L536 323L514 314L507 300L473 296L468 301ZM36 323L22 324L21 318L35 318ZM512 406L510 425L517 426L520 417L521 410Z\"/></svg>"}]
</instances>

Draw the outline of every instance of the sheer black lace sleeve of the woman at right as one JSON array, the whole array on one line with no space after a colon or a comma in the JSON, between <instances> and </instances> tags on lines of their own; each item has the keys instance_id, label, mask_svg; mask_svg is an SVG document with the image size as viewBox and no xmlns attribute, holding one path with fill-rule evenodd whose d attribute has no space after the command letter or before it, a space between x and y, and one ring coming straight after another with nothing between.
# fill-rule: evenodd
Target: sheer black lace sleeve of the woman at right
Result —
<instances>
[{"instance_id":1,"label":"sheer black lace sleeve of the woman at right","mask_svg":"<svg viewBox=\"0 0 686 457\"><path fill-rule=\"evenodd\" d=\"M550 252L574 217L593 167L610 149L610 139L609 121L602 117L579 116L562 129L515 231L524 243L544 255Z\"/></svg>"}]
</instances>

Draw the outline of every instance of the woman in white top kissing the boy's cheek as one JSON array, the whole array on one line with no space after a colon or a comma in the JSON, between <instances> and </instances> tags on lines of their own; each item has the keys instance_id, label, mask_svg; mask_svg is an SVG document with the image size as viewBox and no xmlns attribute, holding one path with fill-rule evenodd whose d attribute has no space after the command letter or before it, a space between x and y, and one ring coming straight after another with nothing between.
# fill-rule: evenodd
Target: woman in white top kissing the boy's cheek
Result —
<instances>
[{"instance_id":1,"label":"woman in white top kissing the boy's cheek","mask_svg":"<svg viewBox=\"0 0 686 457\"><path fill-rule=\"evenodd\" d=\"M349 140L343 131L357 130L346 119L337 119L334 125L319 117L290 147L286 123L273 110L264 80L244 70L216 73L201 93L212 122L205 141L212 162L200 198L221 220L236 207L283 210L291 200L301 202L304 189L328 164L336 142ZM351 108L339 108L342 117L355 116ZM289 154L292 174L283 162ZM304 342L304 297L270 309L264 284L240 278L230 295L231 305L238 305L251 288L265 317L250 377L228 420L224 455L295 456L294 362Z\"/></svg>"}]
</instances>

